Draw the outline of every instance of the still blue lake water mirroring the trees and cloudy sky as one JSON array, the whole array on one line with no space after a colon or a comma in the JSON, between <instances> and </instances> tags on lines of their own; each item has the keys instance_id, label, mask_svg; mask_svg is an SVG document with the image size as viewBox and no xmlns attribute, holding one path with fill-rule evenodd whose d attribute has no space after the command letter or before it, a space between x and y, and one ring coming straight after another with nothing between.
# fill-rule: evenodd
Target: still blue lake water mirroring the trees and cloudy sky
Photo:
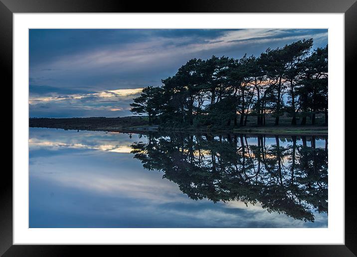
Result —
<instances>
[{"instance_id":1,"label":"still blue lake water mirroring the trees and cloudy sky","mask_svg":"<svg viewBox=\"0 0 357 257\"><path fill-rule=\"evenodd\" d=\"M327 136L30 128L29 226L327 227Z\"/></svg>"}]
</instances>

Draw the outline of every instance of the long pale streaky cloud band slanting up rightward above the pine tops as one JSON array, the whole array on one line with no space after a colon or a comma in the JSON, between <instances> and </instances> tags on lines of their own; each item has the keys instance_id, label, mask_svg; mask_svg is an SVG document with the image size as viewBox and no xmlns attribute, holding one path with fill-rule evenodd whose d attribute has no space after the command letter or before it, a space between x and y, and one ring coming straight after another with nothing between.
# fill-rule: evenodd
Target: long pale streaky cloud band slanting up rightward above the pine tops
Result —
<instances>
[{"instance_id":1,"label":"long pale streaky cloud band slanting up rightward above the pine tops","mask_svg":"<svg viewBox=\"0 0 357 257\"><path fill-rule=\"evenodd\" d=\"M55 61L47 63L49 67L52 67L48 73L58 70L67 73L73 70L98 68L105 68L106 71L114 69L121 73L128 70L141 70L144 67L150 69L148 64L163 67L168 62L175 62L175 57L191 56L192 53L199 55L200 51L211 50L214 52L217 49L241 47L248 43L262 44L313 37L314 34L309 31L295 30L294 33L291 33L286 29L244 29L227 31L223 35L204 41L195 41L188 36L179 38L154 36L149 37L145 42L123 44L120 48L111 46L60 56ZM269 44L267 44L268 46Z\"/></svg>"}]
</instances>

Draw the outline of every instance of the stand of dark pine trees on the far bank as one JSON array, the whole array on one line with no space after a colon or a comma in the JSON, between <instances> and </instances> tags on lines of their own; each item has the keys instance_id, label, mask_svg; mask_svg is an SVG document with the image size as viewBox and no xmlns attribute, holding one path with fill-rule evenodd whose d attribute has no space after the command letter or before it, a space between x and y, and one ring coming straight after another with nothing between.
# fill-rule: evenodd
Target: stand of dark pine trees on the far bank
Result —
<instances>
[{"instance_id":1,"label":"stand of dark pine trees on the far bank","mask_svg":"<svg viewBox=\"0 0 357 257\"><path fill-rule=\"evenodd\" d=\"M245 126L248 116L264 126L267 114L275 125L284 114L292 125L306 125L308 116L315 125L324 113L327 125L328 46L312 46L304 39L259 57L191 59L162 87L144 88L131 112L176 126Z\"/></svg>"}]
</instances>

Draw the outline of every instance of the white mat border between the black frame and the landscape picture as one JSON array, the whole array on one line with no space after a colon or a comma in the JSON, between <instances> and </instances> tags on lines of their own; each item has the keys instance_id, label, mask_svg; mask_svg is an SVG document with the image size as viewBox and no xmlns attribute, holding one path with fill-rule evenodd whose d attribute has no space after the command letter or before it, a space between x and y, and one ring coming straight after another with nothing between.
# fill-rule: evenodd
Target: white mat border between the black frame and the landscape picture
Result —
<instances>
[{"instance_id":1,"label":"white mat border between the black frame and the landscape picture","mask_svg":"<svg viewBox=\"0 0 357 257\"><path fill-rule=\"evenodd\" d=\"M28 28L328 28L328 229L29 229ZM13 244L344 244L344 14L13 15Z\"/></svg>"}]
</instances>

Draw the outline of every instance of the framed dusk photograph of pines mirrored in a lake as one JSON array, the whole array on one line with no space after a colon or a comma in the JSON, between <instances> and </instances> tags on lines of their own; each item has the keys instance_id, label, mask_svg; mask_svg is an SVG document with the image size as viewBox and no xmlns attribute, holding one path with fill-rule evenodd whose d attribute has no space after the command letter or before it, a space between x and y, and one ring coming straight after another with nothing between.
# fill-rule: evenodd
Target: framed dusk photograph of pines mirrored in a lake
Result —
<instances>
[{"instance_id":1,"label":"framed dusk photograph of pines mirrored in a lake","mask_svg":"<svg viewBox=\"0 0 357 257\"><path fill-rule=\"evenodd\" d=\"M29 28L28 227L329 228L328 41Z\"/></svg>"}]
</instances>

